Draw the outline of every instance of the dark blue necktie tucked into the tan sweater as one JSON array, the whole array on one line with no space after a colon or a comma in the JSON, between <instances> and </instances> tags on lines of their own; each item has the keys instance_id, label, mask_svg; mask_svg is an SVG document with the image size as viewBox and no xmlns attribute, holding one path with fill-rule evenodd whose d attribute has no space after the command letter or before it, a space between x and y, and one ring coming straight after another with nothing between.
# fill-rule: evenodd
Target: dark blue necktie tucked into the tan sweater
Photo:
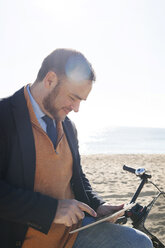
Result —
<instances>
[{"instance_id":1,"label":"dark blue necktie tucked into the tan sweater","mask_svg":"<svg viewBox=\"0 0 165 248\"><path fill-rule=\"evenodd\" d=\"M46 123L46 132L47 132L47 135L49 136L49 138L51 139L53 145L54 145L54 148L56 148L56 143L57 143L57 130L56 130L56 127L53 123L53 120L47 116L47 115L44 115L42 117L42 119L45 121Z\"/></svg>"}]
</instances>

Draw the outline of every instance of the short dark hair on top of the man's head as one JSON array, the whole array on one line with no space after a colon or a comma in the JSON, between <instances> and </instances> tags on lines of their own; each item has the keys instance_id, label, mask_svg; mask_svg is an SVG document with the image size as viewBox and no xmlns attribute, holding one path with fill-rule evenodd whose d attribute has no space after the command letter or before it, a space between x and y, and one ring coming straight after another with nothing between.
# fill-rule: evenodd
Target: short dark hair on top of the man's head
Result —
<instances>
[{"instance_id":1,"label":"short dark hair on top of the man's head","mask_svg":"<svg viewBox=\"0 0 165 248\"><path fill-rule=\"evenodd\" d=\"M79 77L79 79L95 81L96 76L92 65L85 56L72 49L56 49L42 62L36 82L41 82L49 71L58 77Z\"/></svg>"}]
</instances>

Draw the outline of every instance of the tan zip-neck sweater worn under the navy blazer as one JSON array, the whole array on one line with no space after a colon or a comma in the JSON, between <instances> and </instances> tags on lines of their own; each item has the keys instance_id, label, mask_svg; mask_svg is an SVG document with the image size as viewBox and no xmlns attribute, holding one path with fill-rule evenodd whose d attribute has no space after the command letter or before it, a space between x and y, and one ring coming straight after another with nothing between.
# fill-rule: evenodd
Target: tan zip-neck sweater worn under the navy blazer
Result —
<instances>
[{"instance_id":1,"label":"tan zip-neck sweater worn under the navy blazer","mask_svg":"<svg viewBox=\"0 0 165 248\"><path fill-rule=\"evenodd\" d=\"M24 94L30 113L36 149L34 191L57 199L73 199L74 195L70 185L72 154L62 124L61 122L57 123L56 153L53 143L38 123L26 88ZM79 225L76 225L76 227ZM68 228L64 225L52 223L46 235L29 227L22 248L71 248L77 236L76 233L69 234L69 231L73 228L75 228L75 225Z\"/></svg>"}]
</instances>

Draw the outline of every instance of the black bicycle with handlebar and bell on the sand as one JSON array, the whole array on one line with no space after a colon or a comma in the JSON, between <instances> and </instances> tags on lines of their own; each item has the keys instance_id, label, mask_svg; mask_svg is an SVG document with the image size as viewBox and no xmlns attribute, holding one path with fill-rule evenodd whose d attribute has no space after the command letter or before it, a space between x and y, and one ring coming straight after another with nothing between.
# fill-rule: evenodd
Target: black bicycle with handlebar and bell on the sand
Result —
<instances>
[{"instance_id":1,"label":"black bicycle with handlebar and bell on the sand","mask_svg":"<svg viewBox=\"0 0 165 248\"><path fill-rule=\"evenodd\" d=\"M165 245L163 244L165 240L162 241L161 238L156 237L152 233L154 231L153 220L151 219L151 221L148 221L149 218L153 218L153 216L156 214L156 212L154 213L153 209L155 208L157 211L158 206L160 207L163 201L165 204L165 192L162 191L155 183L149 180L151 178L151 175L147 174L144 168L133 169L131 167L124 165L123 170L131 172L141 179L141 182L136 192L134 193L130 203L136 202L144 185L147 183L151 183L157 189L158 192L154 196L154 198L149 202L149 204L147 204L146 206L142 206L139 203L136 203L134 207L132 207L130 210L127 210L125 212L123 217L118 219L117 223L126 224L127 221L130 219L132 221L131 225L133 226L133 228L146 233L151 238L153 246L155 248L165 248ZM161 200L160 203L159 203L159 200ZM162 207L165 209L165 205L164 206L162 205ZM165 214L162 216L161 220L163 220L162 225L164 226L165 225ZM150 227L148 227L148 223L151 223Z\"/></svg>"}]
</instances>

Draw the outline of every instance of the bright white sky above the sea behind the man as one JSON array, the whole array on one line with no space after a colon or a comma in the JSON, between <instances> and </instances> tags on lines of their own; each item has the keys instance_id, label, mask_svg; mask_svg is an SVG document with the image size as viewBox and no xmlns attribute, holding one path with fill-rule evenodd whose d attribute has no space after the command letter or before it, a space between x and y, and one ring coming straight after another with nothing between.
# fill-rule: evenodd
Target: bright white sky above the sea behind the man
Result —
<instances>
[{"instance_id":1,"label":"bright white sky above the sea behind the man","mask_svg":"<svg viewBox=\"0 0 165 248\"><path fill-rule=\"evenodd\" d=\"M33 83L43 59L73 48L97 80L80 130L165 128L164 0L1 0L0 98Z\"/></svg>"}]
</instances>

